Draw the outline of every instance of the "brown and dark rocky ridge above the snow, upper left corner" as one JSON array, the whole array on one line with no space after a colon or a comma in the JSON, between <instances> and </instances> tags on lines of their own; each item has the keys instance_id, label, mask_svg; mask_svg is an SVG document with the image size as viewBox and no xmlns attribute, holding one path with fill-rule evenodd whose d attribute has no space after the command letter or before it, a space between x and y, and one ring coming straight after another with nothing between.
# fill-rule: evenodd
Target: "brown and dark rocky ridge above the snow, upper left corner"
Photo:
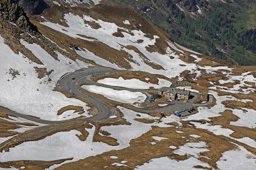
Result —
<instances>
[{"instance_id":1,"label":"brown and dark rocky ridge above the snow, upper left corner","mask_svg":"<svg viewBox=\"0 0 256 170\"><path fill-rule=\"evenodd\" d=\"M31 62L43 65L43 62L32 51L27 49L20 40L40 45L41 48L56 60L58 60L57 51L72 60L76 59L76 56L63 51L57 45L47 40L38 31L38 28L29 21L26 13L20 6L15 4L14 0L0 0L0 36L3 37L4 43L14 53L19 54L20 52L24 57L29 58Z\"/></svg>"}]
</instances>

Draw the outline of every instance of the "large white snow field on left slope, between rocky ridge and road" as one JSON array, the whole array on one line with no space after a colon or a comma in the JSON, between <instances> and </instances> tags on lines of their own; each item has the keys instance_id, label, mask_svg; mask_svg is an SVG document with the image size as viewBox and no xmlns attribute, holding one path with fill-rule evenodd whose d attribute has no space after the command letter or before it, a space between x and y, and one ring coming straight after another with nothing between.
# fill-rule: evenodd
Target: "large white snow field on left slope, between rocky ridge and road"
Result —
<instances>
[{"instance_id":1,"label":"large white snow field on left slope, between rocky ridge and road","mask_svg":"<svg viewBox=\"0 0 256 170\"><path fill-rule=\"evenodd\" d=\"M60 92L52 91L62 75L80 68L87 68L88 64L80 60L72 61L59 53L58 59L60 61L56 61L39 45L29 44L25 41L22 41L22 44L31 50L44 65L38 65L28 58L23 58L21 53L15 54L7 45L1 43L0 105L18 113L37 116L46 120L69 119L69 117L58 116L58 110L67 105L78 105L84 107L85 113L82 116L89 116L88 111L86 111L88 108L86 103L78 99L69 99ZM47 68L47 71L53 69L54 71L49 76L38 79L34 67ZM20 75L12 79L12 75L8 73L10 68L20 71ZM49 78L51 79L50 82L48 82ZM74 115L76 117L81 116L78 113L72 113L72 116Z\"/></svg>"}]
</instances>

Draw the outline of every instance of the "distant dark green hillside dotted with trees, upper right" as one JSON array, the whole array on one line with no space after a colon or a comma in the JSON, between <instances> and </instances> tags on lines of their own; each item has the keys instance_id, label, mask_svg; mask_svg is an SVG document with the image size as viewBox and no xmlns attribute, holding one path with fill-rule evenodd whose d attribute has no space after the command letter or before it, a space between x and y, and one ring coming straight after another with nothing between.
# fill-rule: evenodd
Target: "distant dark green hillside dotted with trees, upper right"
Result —
<instances>
[{"instance_id":1,"label":"distant dark green hillside dotted with trees, upper right","mask_svg":"<svg viewBox=\"0 0 256 170\"><path fill-rule=\"evenodd\" d=\"M134 8L175 42L236 65L256 65L256 5L242 0L103 0ZM250 30L251 31L248 31Z\"/></svg>"}]
</instances>

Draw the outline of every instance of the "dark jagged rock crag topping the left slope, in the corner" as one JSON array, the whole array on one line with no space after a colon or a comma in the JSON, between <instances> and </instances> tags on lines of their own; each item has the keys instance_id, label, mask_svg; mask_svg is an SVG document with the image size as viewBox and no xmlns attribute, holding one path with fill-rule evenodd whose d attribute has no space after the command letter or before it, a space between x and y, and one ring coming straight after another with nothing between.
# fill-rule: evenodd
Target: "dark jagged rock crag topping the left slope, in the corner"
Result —
<instances>
[{"instance_id":1,"label":"dark jagged rock crag topping the left slope, in the corner","mask_svg":"<svg viewBox=\"0 0 256 170\"><path fill-rule=\"evenodd\" d=\"M0 1L0 17L7 20L20 29L34 34L38 33L38 29L29 22L29 18L20 6L17 6L14 0L1 0Z\"/></svg>"}]
</instances>

